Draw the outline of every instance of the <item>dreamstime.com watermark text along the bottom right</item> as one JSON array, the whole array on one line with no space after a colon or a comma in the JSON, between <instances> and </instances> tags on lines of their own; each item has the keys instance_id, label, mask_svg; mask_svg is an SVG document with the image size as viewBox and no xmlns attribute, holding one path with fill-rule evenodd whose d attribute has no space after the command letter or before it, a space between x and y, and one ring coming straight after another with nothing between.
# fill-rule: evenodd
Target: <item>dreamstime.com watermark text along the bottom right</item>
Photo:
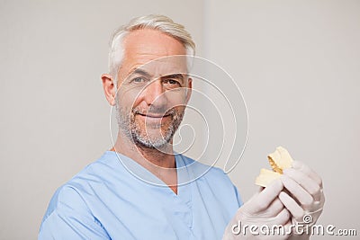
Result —
<instances>
[{"instance_id":1,"label":"dreamstime.com watermark text along the bottom right","mask_svg":"<svg viewBox=\"0 0 360 240\"><path fill-rule=\"evenodd\" d=\"M302 222L290 225L242 224L238 221L231 227L232 234L241 236L357 236L355 228L338 228L334 225L312 224L312 216L306 214Z\"/></svg>"}]
</instances>

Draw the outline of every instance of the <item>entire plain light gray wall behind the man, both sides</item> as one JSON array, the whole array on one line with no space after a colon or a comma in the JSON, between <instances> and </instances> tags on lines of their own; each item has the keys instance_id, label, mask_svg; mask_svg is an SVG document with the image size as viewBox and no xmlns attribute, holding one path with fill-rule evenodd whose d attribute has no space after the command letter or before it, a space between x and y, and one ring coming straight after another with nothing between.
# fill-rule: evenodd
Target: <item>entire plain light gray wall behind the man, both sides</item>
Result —
<instances>
[{"instance_id":1,"label":"entire plain light gray wall behind the man, both sides","mask_svg":"<svg viewBox=\"0 0 360 240\"><path fill-rule=\"evenodd\" d=\"M283 145L323 177L320 223L359 232L359 1L2 0L0 239L36 239L53 192L110 147L108 40L146 13L184 23L240 86L249 138L230 177L243 199Z\"/></svg>"}]
</instances>

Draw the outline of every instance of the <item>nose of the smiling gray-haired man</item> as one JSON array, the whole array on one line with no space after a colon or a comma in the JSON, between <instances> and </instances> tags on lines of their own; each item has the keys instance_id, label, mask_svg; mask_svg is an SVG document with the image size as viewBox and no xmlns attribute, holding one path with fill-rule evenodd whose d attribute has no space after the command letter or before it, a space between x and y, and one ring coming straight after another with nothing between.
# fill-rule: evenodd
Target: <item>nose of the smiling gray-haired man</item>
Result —
<instances>
[{"instance_id":1,"label":"nose of the smiling gray-haired man","mask_svg":"<svg viewBox=\"0 0 360 240\"><path fill-rule=\"evenodd\" d=\"M159 79L148 84L143 92L143 99L149 105L164 106L166 105L166 93L164 86Z\"/></svg>"}]
</instances>

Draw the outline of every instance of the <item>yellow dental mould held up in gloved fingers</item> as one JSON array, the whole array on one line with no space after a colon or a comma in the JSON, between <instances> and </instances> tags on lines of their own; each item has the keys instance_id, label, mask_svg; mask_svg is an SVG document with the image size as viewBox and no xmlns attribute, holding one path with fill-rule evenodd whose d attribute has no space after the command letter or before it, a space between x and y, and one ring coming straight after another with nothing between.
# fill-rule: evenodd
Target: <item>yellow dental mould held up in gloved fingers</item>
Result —
<instances>
[{"instance_id":1,"label":"yellow dental mould held up in gloved fingers","mask_svg":"<svg viewBox=\"0 0 360 240\"><path fill-rule=\"evenodd\" d=\"M262 168L260 174L255 180L258 186L266 187L270 182L281 177L283 170L290 168L293 163L293 158L284 147L276 147L274 153L267 156L273 171Z\"/></svg>"}]
</instances>

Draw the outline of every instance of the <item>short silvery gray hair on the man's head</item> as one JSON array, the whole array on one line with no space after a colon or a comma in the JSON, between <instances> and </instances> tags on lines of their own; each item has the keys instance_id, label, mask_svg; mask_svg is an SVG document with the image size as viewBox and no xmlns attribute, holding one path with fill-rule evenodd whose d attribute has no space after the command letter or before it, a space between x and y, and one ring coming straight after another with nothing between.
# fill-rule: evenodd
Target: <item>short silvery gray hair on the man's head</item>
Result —
<instances>
[{"instance_id":1,"label":"short silvery gray hair on the man's head","mask_svg":"<svg viewBox=\"0 0 360 240\"><path fill-rule=\"evenodd\" d=\"M132 19L127 25L121 26L112 34L109 51L109 72L110 75L115 78L115 81L117 80L117 72L121 66L123 57L122 40L131 31L140 29L153 29L164 32L175 40L179 40L184 45L187 55L195 55L195 43L193 42L190 33L184 29L183 25L175 23L164 15L150 14L137 17Z\"/></svg>"}]
</instances>

